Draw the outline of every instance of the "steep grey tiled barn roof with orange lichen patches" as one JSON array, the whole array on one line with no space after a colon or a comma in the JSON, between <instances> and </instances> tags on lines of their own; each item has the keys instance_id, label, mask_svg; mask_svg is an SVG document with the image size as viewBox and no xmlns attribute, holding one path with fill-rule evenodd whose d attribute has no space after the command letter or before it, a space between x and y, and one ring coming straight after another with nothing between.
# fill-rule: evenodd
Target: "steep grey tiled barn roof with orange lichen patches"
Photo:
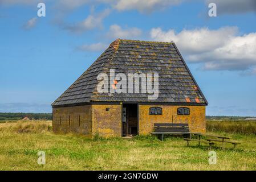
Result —
<instances>
[{"instance_id":1,"label":"steep grey tiled barn roof with orange lichen patches","mask_svg":"<svg viewBox=\"0 0 256 182\"><path fill-rule=\"evenodd\" d=\"M115 73L159 73L159 97L148 100L143 93L97 92L97 75L115 69ZM166 102L208 105L176 45L117 39L68 88L52 106L104 102Z\"/></svg>"}]
</instances>

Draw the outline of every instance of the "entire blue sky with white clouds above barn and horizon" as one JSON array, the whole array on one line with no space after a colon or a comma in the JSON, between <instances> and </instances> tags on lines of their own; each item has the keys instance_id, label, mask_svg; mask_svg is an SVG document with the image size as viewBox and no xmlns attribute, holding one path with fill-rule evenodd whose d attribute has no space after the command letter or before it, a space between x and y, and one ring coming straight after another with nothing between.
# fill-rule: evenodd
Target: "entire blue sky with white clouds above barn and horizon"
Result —
<instances>
[{"instance_id":1,"label":"entire blue sky with white clouds above barn and horizon","mask_svg":"<svg viewBox=\"0 0 256 182\"><path fill-rule=\"evenodd\" d=\"M51 112L123 38L173 40L209 101L206 114L256 116L255 22L255 0L0 0L0 112Z\"/></svg>"}]
</instances>

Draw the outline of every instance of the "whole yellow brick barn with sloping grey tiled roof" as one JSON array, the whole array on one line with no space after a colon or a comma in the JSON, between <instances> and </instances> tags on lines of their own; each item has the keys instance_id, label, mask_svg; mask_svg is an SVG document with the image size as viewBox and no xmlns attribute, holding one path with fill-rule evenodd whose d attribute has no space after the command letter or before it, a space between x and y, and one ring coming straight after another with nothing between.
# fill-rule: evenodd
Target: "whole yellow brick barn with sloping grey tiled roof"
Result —
<instances>
[{"instance_id":1,"label":"whole yellow brick barn with sloping grey tiled roof","mask_svg":"<svg viewBox=\"0 0 256 182\"><path fill-rule=\"evenodd\" d=\"M52 103L52 126L88 138L146 135L155 123L205 133L207 105L173 42L117 39Z\"/></svg>"}]
</instances>

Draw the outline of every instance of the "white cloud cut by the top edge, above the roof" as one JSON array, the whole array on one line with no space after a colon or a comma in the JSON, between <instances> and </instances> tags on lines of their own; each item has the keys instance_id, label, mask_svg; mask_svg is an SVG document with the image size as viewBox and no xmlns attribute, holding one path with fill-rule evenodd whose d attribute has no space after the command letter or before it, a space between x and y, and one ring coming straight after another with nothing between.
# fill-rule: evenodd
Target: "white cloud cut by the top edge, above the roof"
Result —
<instances>
[{"instance_id":1,"label":"white cloud cut by the top edge, above the roof","mask_svg":"<svg viewBox=\"0 0 256 182\"><path fill-rule=\"evenodd\" d=\"M164 9L168 6L178 5L182 0L119 0L114 5L117 10L138 10L140 12L150 12Z\"/></svg>"}]
</instances>

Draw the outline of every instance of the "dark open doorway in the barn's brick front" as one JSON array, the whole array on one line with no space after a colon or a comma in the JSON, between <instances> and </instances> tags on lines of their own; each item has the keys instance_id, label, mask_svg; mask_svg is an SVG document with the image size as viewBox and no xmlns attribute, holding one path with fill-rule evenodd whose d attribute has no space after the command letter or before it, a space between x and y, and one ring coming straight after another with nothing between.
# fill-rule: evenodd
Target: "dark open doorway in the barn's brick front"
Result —
<instances>
[{"instance_id":1,"label":"dark open doorway in the barn's brick front","mask_svg":"<svg viewBox=\"0 0 256 182\"><path fill-rule=\"evenodd\" d=\"M138 105L123 104L122 111L122 133L123 137L138 134Z\"/></svg>"}]
</instances>

